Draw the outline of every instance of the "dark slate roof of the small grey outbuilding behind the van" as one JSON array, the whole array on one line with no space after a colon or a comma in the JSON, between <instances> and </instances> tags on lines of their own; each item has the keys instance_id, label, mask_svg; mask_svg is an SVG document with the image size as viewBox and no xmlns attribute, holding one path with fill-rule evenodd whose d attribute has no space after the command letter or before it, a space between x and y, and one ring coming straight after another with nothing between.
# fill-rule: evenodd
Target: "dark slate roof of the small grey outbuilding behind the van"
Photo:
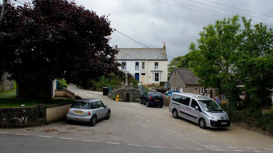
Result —
<instances>
[{"instance_id":1,"label":"dark slate roof of the small grey outbuilding behind the van","mask_svg":"<svg viewBox=\"0 0 273 153\"><path fill-rule=\"evenodd\" d=\"M196 77L191 70L187 68L175 68L175 70L185 85L199 85L197 81L200 79Z\"/></svg>"}]
</instances>

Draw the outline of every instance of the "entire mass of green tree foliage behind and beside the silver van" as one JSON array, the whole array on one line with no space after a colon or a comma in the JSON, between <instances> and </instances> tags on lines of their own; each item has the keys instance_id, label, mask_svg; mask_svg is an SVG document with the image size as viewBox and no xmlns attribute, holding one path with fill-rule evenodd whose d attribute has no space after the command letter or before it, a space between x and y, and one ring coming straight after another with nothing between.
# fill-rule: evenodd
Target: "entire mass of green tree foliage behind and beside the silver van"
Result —
<instances>
[{"instance_id":1,"label":"entire mass of green tree foliage behind and beside the silver van","mask_svg":"<svg viewBox=\"0 0 273 153\"><path fill-rule=\"evenodd\" d=\"M229 100L229 109L237 107L242 91L246 107L271 107L273 88L273 32L263 23L251 25L239 15L217 20L203 27L198 48L190 44L189 67L204 87L219 88ZM238 81L245 87L236 87Z\"/></svg>"}]
</instances>

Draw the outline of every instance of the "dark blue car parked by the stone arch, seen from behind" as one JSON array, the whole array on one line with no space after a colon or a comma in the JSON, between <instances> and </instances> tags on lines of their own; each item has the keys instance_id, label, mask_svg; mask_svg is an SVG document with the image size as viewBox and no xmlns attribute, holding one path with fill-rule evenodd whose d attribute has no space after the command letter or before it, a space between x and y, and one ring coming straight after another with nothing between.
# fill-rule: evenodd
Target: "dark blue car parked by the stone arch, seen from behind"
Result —
<instances>
[{"instance_id":1,"label":"dark blue car parked by the stone arch, seen from behind","mask_svg":"<svg viewBox=\"0 0 273 153\"><path fill-rule=\"evenodd\" d=\"M157 92L145 92L140 97L140 104L146 103L146 106L149 107L150 105L159 106L160 108L163 107L164 104L164 97L161 93Z\"/></svg>"}]
</instances>

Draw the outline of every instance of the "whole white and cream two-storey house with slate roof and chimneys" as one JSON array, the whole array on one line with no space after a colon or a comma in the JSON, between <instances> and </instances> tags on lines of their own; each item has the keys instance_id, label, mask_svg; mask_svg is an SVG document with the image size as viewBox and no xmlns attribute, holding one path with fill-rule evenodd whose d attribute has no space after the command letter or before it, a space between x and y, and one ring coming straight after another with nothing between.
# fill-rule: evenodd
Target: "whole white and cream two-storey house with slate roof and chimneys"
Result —
<instances>
[{"instance_id":1,"label":"whole white and cream two-storey house with slate roof and chimneys","mask_svg":"<svg viewBox=\"0 0 273 153\"><path fill-rule=\"evenodd\" d=\"M131 73L142 84L168 81L168 57L163 48L117 48L116 59L124 73Z\"/></svg>"}]
</instances>

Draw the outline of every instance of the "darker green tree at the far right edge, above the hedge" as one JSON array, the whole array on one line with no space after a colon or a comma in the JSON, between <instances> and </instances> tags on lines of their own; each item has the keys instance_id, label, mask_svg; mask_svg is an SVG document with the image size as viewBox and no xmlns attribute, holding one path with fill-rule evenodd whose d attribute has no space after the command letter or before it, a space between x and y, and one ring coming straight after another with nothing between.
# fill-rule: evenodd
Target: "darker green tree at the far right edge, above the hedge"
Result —
<instances>
[{"instance_id":1,"label":"darker green tree at the far right edge, above the hedge","mask_svg":"<svg viewBox=\"0 0 273 153\"><path fill-rule=\"evenodd\" d=\"M247 108L270 108L273 89L273 31L263 23L251 25L244 17L243 45L239 49L236 75L245 85Z\"/></svg>"}]
</instances>

